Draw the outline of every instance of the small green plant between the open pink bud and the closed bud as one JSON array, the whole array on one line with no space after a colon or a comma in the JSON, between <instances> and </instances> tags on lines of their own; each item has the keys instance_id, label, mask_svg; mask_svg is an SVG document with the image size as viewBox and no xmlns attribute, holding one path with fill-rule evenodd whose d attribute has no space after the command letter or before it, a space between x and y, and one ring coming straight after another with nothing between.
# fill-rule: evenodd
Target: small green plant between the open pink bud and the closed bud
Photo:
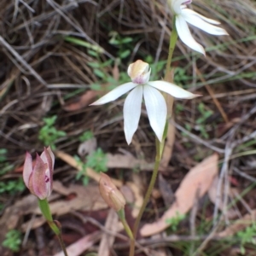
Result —
<instances>
[{"instance_id":1,"label":"small green plant between the open pink bud and the closed bud","mask_svg":"<svg viewBox=\"0 0 256 256\"><path fill-rule=\"evenodd\" d=\"M107 172L107 156L102 151L102 148L97 148L96 151L86 156L85 162L83 162L78 155L74 156L77 161L80 171L76 175L76 179L82 179L82 183L86 186L89 182L89 177L86 175L86 169L92 168L96 172Z\"/></svg>"}]
</instances>

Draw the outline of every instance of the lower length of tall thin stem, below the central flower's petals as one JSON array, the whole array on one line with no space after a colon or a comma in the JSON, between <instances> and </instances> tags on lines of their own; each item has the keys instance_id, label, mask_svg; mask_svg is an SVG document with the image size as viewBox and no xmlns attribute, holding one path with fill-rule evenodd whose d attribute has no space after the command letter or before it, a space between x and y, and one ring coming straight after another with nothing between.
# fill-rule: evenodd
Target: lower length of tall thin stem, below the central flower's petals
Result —
<instances>
[{"instance_id":1,"label":"lower length of tall thin stem, below the central flower's petals","mask_svg":"<svg viewBox=\"0 0 256 256\"><path fill-rule=\"evenodd\" d=\"M162 143L164 143L164 141ZM146 208L146 206L148 204L148 201L149 201L149 197L152 193L152 190L154 189L154 183L156 181L158 169L159 169L159 166L160 166L160 159L161 159L160 148L162 148L162 146L161 146L162 143L160 143L160 141L157 138L155 139L156 156L155 156L155 162L154 162L154 171L153 171L150 183L148 185L148 191L145 195L145 198L144 198L144 201L143 201L143 206L141 207L140 212L138 213L138 216L135 220L135 224L133 226L133 237L135 239L136 239L136 236L137 236L138 226L140 224L141 218L143 217L143 212L145 211L145 208ZM129 256L134 256L135 239L131 240Z\"/></svg>"}]
</instances>

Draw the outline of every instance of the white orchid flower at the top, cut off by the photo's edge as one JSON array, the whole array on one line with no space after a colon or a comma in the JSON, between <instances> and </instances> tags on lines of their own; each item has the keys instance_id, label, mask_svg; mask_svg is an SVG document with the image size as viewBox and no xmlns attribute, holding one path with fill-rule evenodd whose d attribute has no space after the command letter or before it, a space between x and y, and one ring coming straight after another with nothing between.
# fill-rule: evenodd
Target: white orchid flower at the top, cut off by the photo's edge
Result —
<instances>
[{"instance_id":1,"label":"white orchid flower at the top, cut off by the photo's edge","mask_svg":"<svg viewBox=\"0 0 256 256\"><path fill-rule=\"evenodd\" d=\"M198 44L192 37L187 22L212 35L228 35L228 32L223 28L212 25L219 25L220 22L217 20L208 19L203 15L199 15L194 10L188 9L185 4L192 3L192 0L168 0L168 3L175 15L177 34L183 43L187 44L191 49L206 55L201 44Z\"/></svg>"}]
</instances>

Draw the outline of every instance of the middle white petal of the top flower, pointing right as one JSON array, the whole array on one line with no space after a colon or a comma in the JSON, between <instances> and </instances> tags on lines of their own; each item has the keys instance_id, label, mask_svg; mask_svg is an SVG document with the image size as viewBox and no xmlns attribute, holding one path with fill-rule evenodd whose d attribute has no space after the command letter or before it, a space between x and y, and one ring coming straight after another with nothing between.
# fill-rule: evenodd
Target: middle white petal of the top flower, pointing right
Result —
<instances>
[{"instance_id":1,"label":"middle white petal of the top flower, pointing right","mask_svg":"<svg viewBox=\"0 0 256 256\"><path fill-rule=\"evenodd\" d=\"M217 36L228 34L223 28L213 26L212 24L207 23L207 21L202 20L201 16L196 14L195 12L194 14L191 14L189 9L183 9L182 16L183 19L189 22L191 25L196 26L209 34Z\"/></svg>"}]
</instances>

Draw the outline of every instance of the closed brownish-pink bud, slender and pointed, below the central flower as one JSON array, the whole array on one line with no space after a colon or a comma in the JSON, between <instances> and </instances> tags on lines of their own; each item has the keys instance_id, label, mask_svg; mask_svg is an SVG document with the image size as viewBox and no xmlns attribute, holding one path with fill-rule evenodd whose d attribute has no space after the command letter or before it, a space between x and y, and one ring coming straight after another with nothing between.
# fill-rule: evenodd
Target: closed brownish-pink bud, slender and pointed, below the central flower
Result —
<instances>
[{"instance_id":1,"label":"closed brownish-pink bud, slender and pointed, below the central flower","mask_svg":"<svg viewBox=\"0 0 256 256\"><path fill-rule=\"evenodd\" d=\"M124 195L117 189L107 174L101 173L99 187L102 198L108 204L108 207L112 207L116 212L125 207Z\"/></svg>"}]
</instances>

